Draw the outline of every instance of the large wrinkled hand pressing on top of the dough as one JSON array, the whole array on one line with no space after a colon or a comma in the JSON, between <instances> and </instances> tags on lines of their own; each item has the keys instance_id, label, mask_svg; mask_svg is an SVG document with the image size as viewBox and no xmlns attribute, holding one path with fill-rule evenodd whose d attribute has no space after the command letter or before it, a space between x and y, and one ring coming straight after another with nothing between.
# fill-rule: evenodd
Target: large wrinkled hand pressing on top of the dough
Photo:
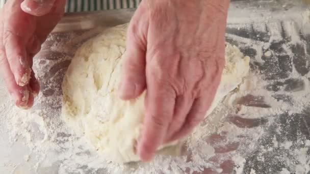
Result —
<instances>
[{"instance_id":1,"label":"large wrinkled hand pressing on top of the dough","mask_svg":"<svg viewBox=\"0 0 310 174\"><path fill-rule=\"evenodd\" d=\"M224 67L229 1L144 0L127 34L120 97L145 89L145 119L137 151L189 134L213 101Z\"/></svg>"}]
</instances>

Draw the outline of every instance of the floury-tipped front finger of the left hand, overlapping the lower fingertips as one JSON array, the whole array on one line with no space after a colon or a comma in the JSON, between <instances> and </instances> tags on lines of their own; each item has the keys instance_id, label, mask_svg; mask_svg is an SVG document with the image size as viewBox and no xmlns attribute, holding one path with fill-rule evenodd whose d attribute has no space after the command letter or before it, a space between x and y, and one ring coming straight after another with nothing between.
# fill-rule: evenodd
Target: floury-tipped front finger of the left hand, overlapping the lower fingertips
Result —
<instances>
[{"instance_id":1,"label":"floury-tipped front finger of the left hand, overlapping the lower fingertips","mask_svg":"<svg viewBox=\"0 0 310 174\"><path fill-rule=\"evenodd\" d=\"M18 85L27 85L31 76L31 67L26 50L28 27L34 28L29 14L25 14L18 6L19 0L9 1L2 16L3 28L0 34L6 57L12 74ZM31 26L29 26L31 25Z\"/></svg>"}]
</instances>

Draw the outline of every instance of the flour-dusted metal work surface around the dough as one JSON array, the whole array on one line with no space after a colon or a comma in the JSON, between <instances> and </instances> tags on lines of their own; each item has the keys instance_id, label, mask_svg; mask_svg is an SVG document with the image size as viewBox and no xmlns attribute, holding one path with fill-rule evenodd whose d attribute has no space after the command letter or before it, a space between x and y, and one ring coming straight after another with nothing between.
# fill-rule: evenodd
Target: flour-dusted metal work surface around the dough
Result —
<instances>
[{"instance_id":1,"label":"flour-dusted metal work surface around the dough","mask_svg":"<svg viewBox=\"0 0 310 174\"><path fill-rule=\"evenodd\" d=\"M250 55L252 73L241 90L228 96L226 104L187 139L183 156L158 156L150 164L104 163L96 152L89 151L90 144L66 129L60 119L60 87L78 45L70 49L64 49L64 45L81 33L50 36L34 61L42 92L33 110L13 107L4 82L0 82L0 171L306 173L310 147L310 37L305 30L309 24L307 12L296 14L300 18L267 18L267 23L242 23L236 19L234 24L228 24L226 40ZM265 54L268 51L270 54Z\"/></svg>"}]
</instances>

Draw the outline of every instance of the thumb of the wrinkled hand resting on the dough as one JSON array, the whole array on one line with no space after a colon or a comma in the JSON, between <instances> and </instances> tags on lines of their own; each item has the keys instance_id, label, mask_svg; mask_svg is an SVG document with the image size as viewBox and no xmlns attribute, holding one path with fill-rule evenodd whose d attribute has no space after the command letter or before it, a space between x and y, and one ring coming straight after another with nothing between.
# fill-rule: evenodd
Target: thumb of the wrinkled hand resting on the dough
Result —
<instances>
[{"instance_id":1,"label":"thumb of the wrinkled hand resting on the dough","mask_svg":"<svg viewBox=\"0 0 310 174\"><path fill-rule=\"evenodd\" d=\"M120 98L123 100L138 97L145 90L146 86L146 43L138 39L140 36L136 32L135 24L131 24L127 32L126 52L123 57L122 79L119 87Z\"/></svg>"}]
</instances>

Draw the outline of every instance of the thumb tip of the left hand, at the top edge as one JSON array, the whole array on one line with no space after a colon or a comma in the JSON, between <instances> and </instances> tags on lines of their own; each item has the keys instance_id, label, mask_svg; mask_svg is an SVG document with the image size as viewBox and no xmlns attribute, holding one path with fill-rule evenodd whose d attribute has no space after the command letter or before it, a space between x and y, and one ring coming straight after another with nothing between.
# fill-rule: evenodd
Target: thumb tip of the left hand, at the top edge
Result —
<instances>
[{"instance_id":1,"label":"thumb tip of the left hand, at the top edge","mask_svg":"<svg viewBox=\"0 0 310 174\"><path fill-rule=\"evenodd\" d=\"M54 7L55 1L56 0L24 0L20 4L20 8L28 14L43 16L49 13L51 8Z\"/></svg>"}]
</instances>

